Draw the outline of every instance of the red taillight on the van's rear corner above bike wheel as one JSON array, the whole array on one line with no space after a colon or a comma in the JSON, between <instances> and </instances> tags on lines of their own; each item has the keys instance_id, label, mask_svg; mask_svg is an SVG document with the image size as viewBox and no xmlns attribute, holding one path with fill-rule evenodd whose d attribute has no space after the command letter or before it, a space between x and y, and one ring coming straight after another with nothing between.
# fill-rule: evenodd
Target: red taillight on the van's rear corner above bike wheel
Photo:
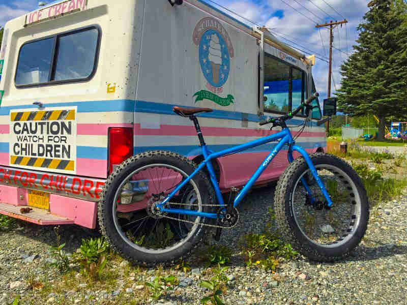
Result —
<instances>
[{"instance_id":1,"label":"red taillight on the van's rear corner above bike wheel","mask_svg":"<svg viewBox=\"0 0 407 305\"><path fill-rule=\"evenodd\" d=\"M109 174L113 168L133 155L133 129L109 128Z\"/></svg>"}]
</instances>

